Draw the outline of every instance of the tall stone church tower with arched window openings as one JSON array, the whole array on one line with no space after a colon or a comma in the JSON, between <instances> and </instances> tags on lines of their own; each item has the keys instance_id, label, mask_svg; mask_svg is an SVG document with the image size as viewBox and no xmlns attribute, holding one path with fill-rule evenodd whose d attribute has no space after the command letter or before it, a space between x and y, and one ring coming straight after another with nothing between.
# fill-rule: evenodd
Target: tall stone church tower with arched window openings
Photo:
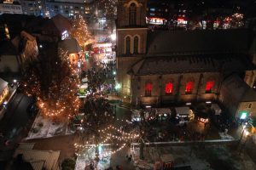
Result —
<instances>
[{"instance_id":1,"label":"tall stone church tower with arched window openings","mask_svg":"<svg viewBox=\"0 0 256 170\"><path fill-rule=\"evenodd\" d=\"M131 95L131 65L146 54L147 0L119 0L117 8L117 82L122 95Z\"/></svg>"}]
</instances>

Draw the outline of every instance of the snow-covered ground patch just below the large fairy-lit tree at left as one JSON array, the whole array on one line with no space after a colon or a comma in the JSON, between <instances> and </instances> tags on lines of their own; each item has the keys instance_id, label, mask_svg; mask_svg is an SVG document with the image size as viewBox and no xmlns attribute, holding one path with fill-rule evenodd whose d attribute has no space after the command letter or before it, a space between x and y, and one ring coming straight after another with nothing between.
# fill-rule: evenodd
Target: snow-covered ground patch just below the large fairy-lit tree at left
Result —
<instances>
[{"instance_id":1,"label":"snow-covered ground patch just below the large fairy-lit tree at left","mask_svg":"<svg viewBox=\"0 0 256 170\"><path fill-rule=\"evenodd\" d=\"M56 123L43 116L37 116L26 139L50 138L66 134L67 124Z\"/></svg>"}]
</instances>

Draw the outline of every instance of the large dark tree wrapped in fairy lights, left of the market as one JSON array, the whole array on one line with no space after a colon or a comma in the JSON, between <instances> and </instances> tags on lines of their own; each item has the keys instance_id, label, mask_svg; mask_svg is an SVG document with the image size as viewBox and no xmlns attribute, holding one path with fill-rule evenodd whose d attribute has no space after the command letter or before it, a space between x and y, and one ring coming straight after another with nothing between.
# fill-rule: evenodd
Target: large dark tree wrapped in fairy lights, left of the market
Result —
<instances>
[{"instance_id":1,"label":"large dark tree wrapped in fairy lights, left of the market","mask_svg":"<svg viewBox=\"0 0 256 170\"><path fill-rule=\"evenodd\" d=\"M37 98L43 116L68 121L79 112L79 99L75 95L79 86L76 69L68 63L67 54L49 44L38 60L27 68L22 88L27 95Z\"/></svg>"}]
</instances>

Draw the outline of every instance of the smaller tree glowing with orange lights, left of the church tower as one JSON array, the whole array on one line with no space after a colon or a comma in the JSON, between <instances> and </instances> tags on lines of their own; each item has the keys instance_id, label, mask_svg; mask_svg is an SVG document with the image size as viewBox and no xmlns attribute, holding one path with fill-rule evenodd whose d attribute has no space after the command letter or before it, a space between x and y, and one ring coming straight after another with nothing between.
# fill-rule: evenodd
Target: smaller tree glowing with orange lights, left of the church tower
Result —
<instances>
[{"instance_id":1,"label":"smaller tree glowing with orange lights, left of the church tower","mask_svg":"<svg viewBox=\"0 0 256 170\"><path fill-rule=\"evenodd\" d=\"M73 20L73 37L79 42L81 47L93 42L88 26L82 16L78 16Z\"/></svg>"}]
</instances>

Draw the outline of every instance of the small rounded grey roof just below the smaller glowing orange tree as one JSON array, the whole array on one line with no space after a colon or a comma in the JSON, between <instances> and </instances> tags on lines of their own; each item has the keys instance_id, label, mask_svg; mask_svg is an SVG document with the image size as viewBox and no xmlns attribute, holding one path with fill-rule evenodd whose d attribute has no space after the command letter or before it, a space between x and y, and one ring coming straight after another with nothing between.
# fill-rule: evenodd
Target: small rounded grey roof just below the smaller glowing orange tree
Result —
<instances>
[{"instance_id":1,"label":"small rounded grey roof just below the smaller glowing orange tree","mask_svg":"<svg viewBox=\"0 0 256 170\"><path fill-rule=\"evenodd\" d=\"M79 46L79 42L73 37L62 40L58 45L59 48L67 51L67 54L78 54L82 51L82 48Z\"/></svg>"}]
</instances>

